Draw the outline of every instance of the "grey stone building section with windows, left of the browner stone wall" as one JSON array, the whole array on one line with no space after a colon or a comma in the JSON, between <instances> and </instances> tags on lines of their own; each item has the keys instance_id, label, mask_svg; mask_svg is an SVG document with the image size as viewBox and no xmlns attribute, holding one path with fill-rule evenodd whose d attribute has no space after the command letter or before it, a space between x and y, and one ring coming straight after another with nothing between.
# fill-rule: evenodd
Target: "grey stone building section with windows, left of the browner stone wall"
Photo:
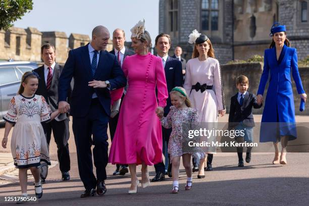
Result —
<instances>
[{"instance_id":1,"label":"grey stone building section with windows, left of the browner stone wall","mask_svg":"<svg viewBox=\"0 0 309 206\"><path fill-rule=\"evenodd\" d=\"M232 2L233 0L160 0L159 33L171 35L170 52L173 53L175 46L180 45L185 59L190 59L193 45L188 43L188 35L197 29L211 39L220 62L230 61L233 35ZM213 19L210 18L211 15Z\"/></svg>"}]
</instances>

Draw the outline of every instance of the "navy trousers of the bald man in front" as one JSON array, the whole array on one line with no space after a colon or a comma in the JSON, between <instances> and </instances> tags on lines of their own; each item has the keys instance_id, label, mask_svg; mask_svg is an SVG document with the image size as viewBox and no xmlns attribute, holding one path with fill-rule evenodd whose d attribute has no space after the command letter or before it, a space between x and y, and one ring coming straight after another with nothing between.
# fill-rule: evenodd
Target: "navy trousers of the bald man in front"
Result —
<instances>
[{"instance_id":1,"label":"navy trousers of the bald man in front","mask_svg":"<svg viewBox=\"0 0 309 206\"><path fill-rule=\"evenodd\" d=\"M108 122L109 116L97 98L92 99L89 113L85 117L73 117L78 171L86 189L95 188L96 180L102 181L107 178ZM96 168L96 178L92 166L92 145L94 145L93 161Z\"/></svg>"}]
</instances>

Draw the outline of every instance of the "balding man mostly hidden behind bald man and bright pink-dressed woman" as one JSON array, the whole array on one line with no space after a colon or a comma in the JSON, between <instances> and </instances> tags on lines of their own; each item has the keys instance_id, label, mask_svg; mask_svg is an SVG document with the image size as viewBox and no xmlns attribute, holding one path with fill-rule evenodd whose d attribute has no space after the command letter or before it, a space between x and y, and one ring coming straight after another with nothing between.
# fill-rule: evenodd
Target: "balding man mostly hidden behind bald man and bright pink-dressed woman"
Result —
<instances>
[{"instance_id":1,"label":"balding man mostly hidden behind bald man and bright pink-dressed woman","mask_svg":"<svg viewBox=\"0 0 309 206\"><path fill-rule=\"evenodd\" d=\"M113 32L113 46L114 49L111 50L111 54L115 55L117 57L117 60L119 62L119 65L122 66L124 59L127 56L131 56L134 55L134 52L132 50L130 50L129 48L124 46L124 42L126 40L125 37L125 32L122 29L115 29ZM116 91L112 91L111 92L111 97L112 97L112 101L113 105L112 105L112 114L111 114L111 119L109 122L109 127L110 127L110 134L111 134L111 140L113 140L115 132L116 132L116 127L117 127L117 123L118 123L118 118L119 115L113 115L113 113L115 113L115 106L118 104L120 105L124 95L126 94L128 85L125 87L123 93L121 92L122 89L116 90ZM120 106L118 109L118 112L120 110ZM117 110L116 109L116 110ZM117 113L117 112L116 112ZM127 165L116 165L116 170L113 173L113 175L125 175L127 172L129 172L128 170L128 166Z\"/></svg>"}]
</instances>

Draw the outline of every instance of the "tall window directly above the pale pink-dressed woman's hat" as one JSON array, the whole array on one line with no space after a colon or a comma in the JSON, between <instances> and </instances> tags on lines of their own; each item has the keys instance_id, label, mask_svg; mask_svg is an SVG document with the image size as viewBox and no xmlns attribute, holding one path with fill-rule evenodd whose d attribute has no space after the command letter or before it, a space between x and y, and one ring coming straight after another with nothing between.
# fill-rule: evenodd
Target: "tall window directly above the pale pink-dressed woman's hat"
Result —
<instances>
[{"instance_id":1,"label":"tall window directly above the pale pink-dressed woman's hat","mask_svg":"<svg viewBox=\"0 0 309 206\"><path fill-rule=\"evenodd\" d=\"M201 28L202 30L217 31L219 25L218 0L201 1Z\"/></svg>"}]
</instances>

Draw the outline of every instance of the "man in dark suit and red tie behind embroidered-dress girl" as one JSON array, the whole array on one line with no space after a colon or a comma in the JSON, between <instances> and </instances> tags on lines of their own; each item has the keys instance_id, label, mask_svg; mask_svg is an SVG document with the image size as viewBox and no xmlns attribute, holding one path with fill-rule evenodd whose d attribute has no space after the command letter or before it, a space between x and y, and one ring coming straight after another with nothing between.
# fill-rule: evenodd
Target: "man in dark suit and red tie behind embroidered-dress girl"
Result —
<instances>
[{"instance_id":1,"label":"man in dark suit and red tie behind embroidered-dress girl","mask_svg":"<svg viewBox=\"0 0 309 206\"><path fill-rule=\"evenodd\" d=\"M36 94L44 96L50 109L54 112L58 109L58 82L63 67L55 62L56 50L53 44L44 44L41 47L41 56L44 65L33 70L40 77ZM70 94L71 90L69 90L69 97L71 96ZM66 114L60 114L54 120L42 123L48 145L53 131L58 148L57 153L62 180L70 180L69 120ZM44 183L48 171L47 165L42 167L41 170L41 179L42 183Z\"/></svg>"}]
</instances>

